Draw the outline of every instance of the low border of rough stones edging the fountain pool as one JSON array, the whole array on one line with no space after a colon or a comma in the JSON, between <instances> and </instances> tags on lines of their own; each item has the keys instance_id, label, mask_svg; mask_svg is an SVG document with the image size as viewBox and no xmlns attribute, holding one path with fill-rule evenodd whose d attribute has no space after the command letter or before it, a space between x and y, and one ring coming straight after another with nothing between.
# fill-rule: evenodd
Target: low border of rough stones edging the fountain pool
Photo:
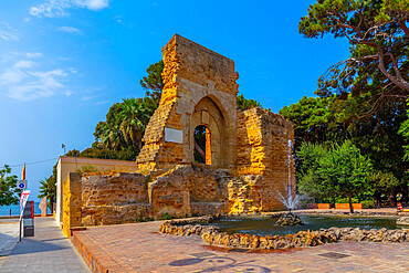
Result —
<instances>
[{"instance_id":1,"label":"low border of rough stones edging the fountain pool","mask_svg":"<svg viewBox=\"0 0 409 273\"><path fill-rule=\"evenodd\" d=\"M210 222L212 218L189 219L183 221L167 221L160 225L160 232L171 235L201 235L204 242L212 245L244 249L291 249L315 246L337 241L365 241L365 242L408 242L409 229L387 230L371 229L361 230L353 228L331 228L318 231L300 231L287 235L251 235L220 232L214 225L201 225Z\"/></svg>"}]
</instances>

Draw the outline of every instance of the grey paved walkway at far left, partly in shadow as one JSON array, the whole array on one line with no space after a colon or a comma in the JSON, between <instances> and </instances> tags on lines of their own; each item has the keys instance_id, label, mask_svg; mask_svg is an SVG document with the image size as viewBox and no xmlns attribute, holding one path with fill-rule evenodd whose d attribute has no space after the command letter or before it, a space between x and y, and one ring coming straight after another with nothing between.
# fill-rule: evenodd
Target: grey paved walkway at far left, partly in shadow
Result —
<instances>
[{"instance_id":1,"label":"grey paved walkway at far left, partly in shadow","mask_svg":"<svg viewBox=\"0 0 409 273\"><path fill-rule=\"evenodd\" d=\"M90 272L53 218L35 218L34 227L34 237L15 245L0 272Z\"/></svg>"}]
</instances>

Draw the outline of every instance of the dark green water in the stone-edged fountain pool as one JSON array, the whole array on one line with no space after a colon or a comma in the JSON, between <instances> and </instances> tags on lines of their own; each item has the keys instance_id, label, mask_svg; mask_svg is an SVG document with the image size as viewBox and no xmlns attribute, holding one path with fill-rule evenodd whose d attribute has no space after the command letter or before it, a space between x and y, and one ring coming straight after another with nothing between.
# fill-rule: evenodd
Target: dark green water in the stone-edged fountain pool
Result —
<instances>
[{"instance_id":1,"label":"dark green water in the stone-edged fountain pool","mask_svg":"<svg viewBox=\"0 0 409 273\"><path fill-rule=\"evenodd\" d=\"M339 216L307 216L298 214L304 225L277 225L279 217L227 217L212 221L211 225L220 228L221 232L248 233L258 235L292 234L301 230L319 230L338 228L360 228L360 229L397 229L394 217L339 217Z\"/></svg>"}]
</instances>

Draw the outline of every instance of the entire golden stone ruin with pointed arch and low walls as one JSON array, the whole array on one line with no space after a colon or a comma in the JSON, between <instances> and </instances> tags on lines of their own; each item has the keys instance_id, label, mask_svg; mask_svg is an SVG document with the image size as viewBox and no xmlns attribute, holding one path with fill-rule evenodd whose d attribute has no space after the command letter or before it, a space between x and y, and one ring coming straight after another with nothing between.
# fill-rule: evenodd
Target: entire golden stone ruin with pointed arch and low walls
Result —
<instances>
[{"instance_id":1,"label":"entire golden stone ruin with pointed arch and low walls","mask_svg":"<svg viewBox=\"0 0 409 273\"><path fill-rule=\"evenodd\" d=\"M260 107L237 106L234 62L180 35L162 48L159 107L149 120L138 171L69 174L63 228L164 216L254 213L284 209L295 195L289 148L293 125ZM195 129L206 127L204 162L195 162Z\"/></svg>"}]
</instances>

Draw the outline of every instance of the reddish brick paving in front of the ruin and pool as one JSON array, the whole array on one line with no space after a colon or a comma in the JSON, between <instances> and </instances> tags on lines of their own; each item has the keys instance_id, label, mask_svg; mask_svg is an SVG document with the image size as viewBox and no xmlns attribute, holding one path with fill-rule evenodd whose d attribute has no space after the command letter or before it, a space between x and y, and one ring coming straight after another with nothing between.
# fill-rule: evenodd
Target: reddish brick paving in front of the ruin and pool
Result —
<instances>
[{"instance_id":1,"label":"reddish brick paving in front of the ruin and pool","mask_svg":"<svg viewBox=\"0 0 409 273\"><path fill-rule=\"evenodd\" d=\"M91 267L109 272L409 272L409 243L338 242L255 253L158 232L161 221L77 231ZM80 248L78 246L78 248Z\"/></svg>"}]
</instances>

